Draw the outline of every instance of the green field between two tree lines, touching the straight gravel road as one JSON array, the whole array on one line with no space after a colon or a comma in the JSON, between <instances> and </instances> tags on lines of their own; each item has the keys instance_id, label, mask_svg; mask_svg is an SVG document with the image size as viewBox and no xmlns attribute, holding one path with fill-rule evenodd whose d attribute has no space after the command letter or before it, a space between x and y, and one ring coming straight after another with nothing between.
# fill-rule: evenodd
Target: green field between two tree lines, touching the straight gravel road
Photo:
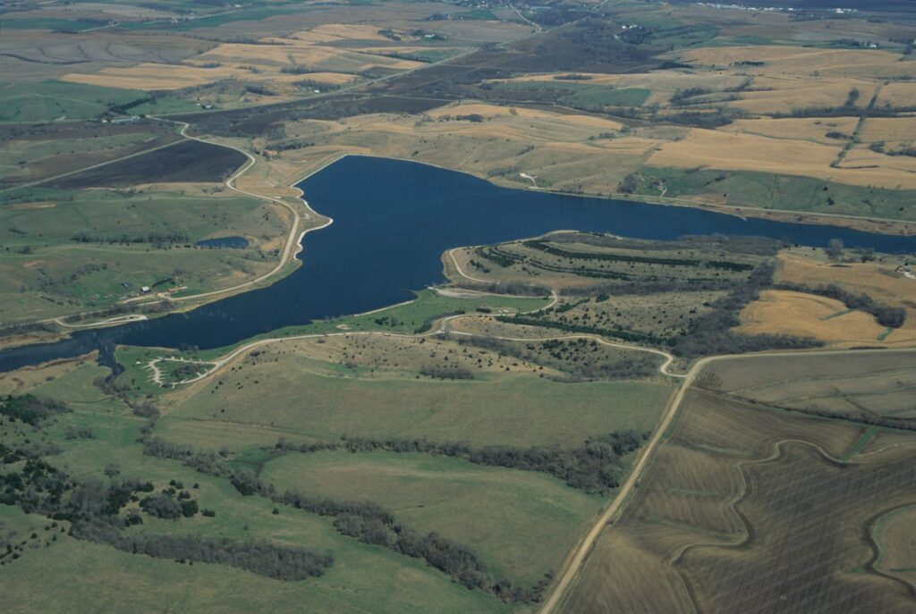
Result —
<instances>
[{"instance_id":1,"label":"green field between two tree lines, touching the straight gravel road","mask_svg":"<svg viewBox=\"0 0 916 614\"><path fill-rule=\"evenodd\" d=\"M497 575L523 585L559 568L602 505L540 473L425 454L293 452L260 475L280 489L377 501L420 531L467 544Z\"/></svg>"}]
</instances>

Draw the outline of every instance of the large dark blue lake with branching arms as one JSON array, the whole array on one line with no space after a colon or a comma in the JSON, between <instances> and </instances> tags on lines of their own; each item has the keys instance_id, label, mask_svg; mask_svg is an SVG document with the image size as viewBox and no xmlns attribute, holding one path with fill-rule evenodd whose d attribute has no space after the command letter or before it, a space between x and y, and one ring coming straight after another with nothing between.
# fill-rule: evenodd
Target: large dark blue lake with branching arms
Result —
<instances>
[{"instance_id":1,"label":"large dark blue lake with branching arms","mask_svg":"<svg viewBox=\"0 0 916 614\"><path fill-rule=\"evenodd\" d=\"M463 173L387 158L344 157L299 188L314 210L334 222L305 236L299 254L303 264L292 275L187 313L5 350L0 372L91 350L100 350L100 361L114 367L118 344L211 349L315 319L386 307L408 300L411 289L442 283L440 257L448 249L555 230L658 240L757 235L819 247L839 238L847 247L916 252L916 237L498 188Z\"/></svg>"}]
</instances>

